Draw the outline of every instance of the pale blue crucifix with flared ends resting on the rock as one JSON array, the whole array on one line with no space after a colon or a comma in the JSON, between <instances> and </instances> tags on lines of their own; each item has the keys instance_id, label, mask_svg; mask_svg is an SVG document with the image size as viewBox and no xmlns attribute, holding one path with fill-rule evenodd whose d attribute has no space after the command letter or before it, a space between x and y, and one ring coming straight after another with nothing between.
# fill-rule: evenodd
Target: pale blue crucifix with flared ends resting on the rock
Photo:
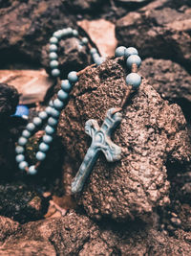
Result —
<instances>
[{"instance_id":1,"label":"pale blue crucifix with flared ends resting on the rock","mask_svg":"<svg viewBox=\"0 0 191 256\"><path fill-rule=\"evenodd\" d=\"M93 140L72 182L73 194L82 190L86 178L90 175L96 163L99 151L105 154L108 162L120 160L121 148L111 140L112 131L122 120L122 115L119 113L120 110L121 108L110 108L107 111L101 128L99 128L94 119L90 119L86 122L85 132L90 135Z\"/></svg>"}]
</instances>

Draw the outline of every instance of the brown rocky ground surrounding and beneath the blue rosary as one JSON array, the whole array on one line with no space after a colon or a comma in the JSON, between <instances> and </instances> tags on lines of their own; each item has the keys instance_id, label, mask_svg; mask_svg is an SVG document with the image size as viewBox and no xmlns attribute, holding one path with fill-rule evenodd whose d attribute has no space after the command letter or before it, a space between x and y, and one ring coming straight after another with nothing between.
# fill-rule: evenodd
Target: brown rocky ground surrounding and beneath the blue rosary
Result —
<instances>
[{"instance_id":1,"label":"brown rocky ground surrounding and beneath the blue rosary","mask_svg":"<svg viewBox=\"0 0 191 256\"><path fill-rule=\"evenodd\" d=\"M76 38L62 40L62 78L89 68L61 112L37 176L16 166L14 145L26 120L11 116L19 102L15 79L9 73L0 79L9 83L0 84L0 255L191 255L190 1L0 0L0 22L1 74L45 69L50 75L49 38L71 26L103 54L116 44L137 47L143 78L122 105L124 59L92 67L86 47L79 50ZM96 40L93 25L102 34L108 26L108 39ZM32 98L30 119L59 86L51 80L43 102ZM91 144L85 122L94 118L100 126L107 109L118 106L123 119L112 140L122 148L121 160L108 163L100 155L82 193L71 196ZM42 134L27 145L31 162Z\"/></svg>"}]
</instances>

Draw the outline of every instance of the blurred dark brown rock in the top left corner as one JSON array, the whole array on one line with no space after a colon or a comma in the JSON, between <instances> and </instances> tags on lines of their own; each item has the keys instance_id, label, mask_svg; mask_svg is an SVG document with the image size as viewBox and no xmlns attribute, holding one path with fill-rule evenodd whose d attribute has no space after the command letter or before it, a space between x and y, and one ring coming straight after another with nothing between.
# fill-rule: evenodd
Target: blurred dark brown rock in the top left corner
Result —
<instances>
[{"instance_id":1,"label":"blurred dark brown rock in the top left corner","mask_svg":"<svg viewBox=\"0 0 191 256\"><path fill-rule=\"evenodd\" d=\"M49 43L53 32L74 27L75 18L64 1L11 1L0 9L1 66L16 62L25 67L41 65L42 47ZM3 61L4 59L4 61Z\"/></svg>"}]
</instances>

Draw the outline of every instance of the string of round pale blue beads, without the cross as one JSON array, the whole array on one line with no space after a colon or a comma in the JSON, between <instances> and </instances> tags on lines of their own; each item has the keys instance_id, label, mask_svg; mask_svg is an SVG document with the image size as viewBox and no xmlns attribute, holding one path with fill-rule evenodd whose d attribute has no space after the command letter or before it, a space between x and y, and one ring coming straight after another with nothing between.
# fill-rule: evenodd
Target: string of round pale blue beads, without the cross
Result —
<instances>
[{"instance_id":1,"label":"string of round pale blue beads, without the cross","mask_svg":"<svg viewBox=\"0 0 191 256\"><path fill-rule=\"evenodd\" d=\"M59 40L66 36L74 36L79 38L79 45L81 47L88 45L90 47L90 54L93 58L93 61L96 65L100 65L105 59L100 57L96 48L92 48L89 45L87 37L79 37L78 32L72 28L67 28L63 30L58 30L53 33L53 36L50 39L50 67L52 69L51 73L54 78L60 76L60 70L58 68L58 56L57 49ZM133 89L138 89L139 84L141 83L141 77L138 75L138 67L141 64L141 59L138 57L138 50L134 47L124 47L119 46L115 52L116 57L122 57L126 59L127 67L132 70L126 77L126 84L131 85ZM79 72L80 73L80 72ZM18 139L16 151L16 162L18 167L22 171L26 171L30 175L35 175L37 169L40 165L40 162L46 158L46 153L50 149L50 145L53 141L53 133L55 132L56 125L58 123L59 115L61 110L66 106L70 91L72 90L74 83L78 81L78 74L75 71L71 71L68 74L68 79L61 81L61 89L57 92L56 99L50 101L49 105L44 111L40 111L37 117L34 117L32 123L29 123L26 128L22 131L21 136ZM29 166L28 162L25 160L25 146L28 142L28 139L32 136L37 128L40 128L47 121L45 127L45 135L42 137L42 142L38 146L38 151L35 154L37 163L35 165Z\"/></svg>"}]
</instances>

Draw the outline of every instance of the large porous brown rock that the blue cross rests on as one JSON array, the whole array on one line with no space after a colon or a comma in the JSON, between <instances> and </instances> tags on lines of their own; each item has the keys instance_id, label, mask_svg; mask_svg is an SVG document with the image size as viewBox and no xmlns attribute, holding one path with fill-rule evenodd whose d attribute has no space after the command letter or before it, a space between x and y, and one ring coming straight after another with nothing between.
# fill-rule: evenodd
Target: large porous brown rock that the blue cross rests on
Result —
<instances>
[{"instance_id":1,"label":"large porous brown rock that the blue cross rests on","mask_svg":"<svg viewBox=\"0 0 191 256\"><path fill-rule=\"evenodd\" d=\"M79 77L69 104L62 111L58 134L76 173L90 146L84 132L88 119L101 125L106 111L120 107L127 85L123 58L107 59ZM166 163L190 160L186 122L179 105L169 105L145 80L127 105L113 141L121 160L108 163L101 154L77 198L87 214L116 221L141 218L169 202ZM63 167L64 169L64 167Z\"/></svg>"}]
</instances>

